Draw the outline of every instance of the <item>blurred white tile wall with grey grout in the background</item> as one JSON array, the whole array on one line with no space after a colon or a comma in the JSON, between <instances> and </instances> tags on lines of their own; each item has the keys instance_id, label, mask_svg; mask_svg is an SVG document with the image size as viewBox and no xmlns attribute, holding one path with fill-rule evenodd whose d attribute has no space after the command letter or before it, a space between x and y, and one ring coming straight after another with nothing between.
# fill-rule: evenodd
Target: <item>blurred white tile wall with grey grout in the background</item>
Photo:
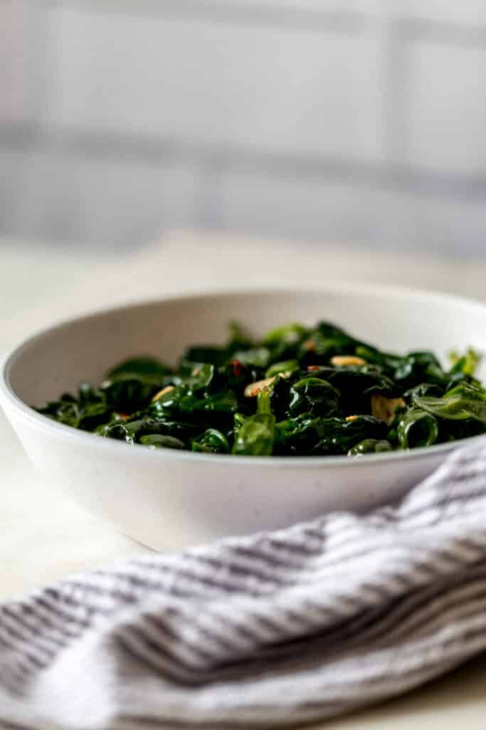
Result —
<instances>
[{"instance_id":1,"label":"blurred white tile wall with grey grout in the background","mask_svg":"<svg viewBox=\"0 0 486 730\"><path fill-rule=\"evenodd\" d=\"M486 4L0 0L0 230L486 255Z\"/></svg>"}]
</instances>

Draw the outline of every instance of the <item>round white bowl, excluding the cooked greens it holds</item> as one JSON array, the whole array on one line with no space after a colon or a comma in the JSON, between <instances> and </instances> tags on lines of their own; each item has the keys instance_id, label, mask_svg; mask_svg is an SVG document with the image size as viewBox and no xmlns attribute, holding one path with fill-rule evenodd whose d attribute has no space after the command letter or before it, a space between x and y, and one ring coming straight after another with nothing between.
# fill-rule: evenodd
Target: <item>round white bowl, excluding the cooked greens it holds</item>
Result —
<instances>
[{"instance_id":1,"label":"round white bowl, excluding the cooked greens it holds","mask_svg":"<svg viewBox=\"0 0 486 730\"><path fill-rule=\"evenodd\" d=\"M451 296L342 283L323 291L184 296L95 313L27 339L4 361L0 403L39 469L92 512L159 549L391 502L465 443L356 459L221 456L129 446L31 408L79 380L99 382L127 356L174 361L186 345L223 342L232 319L255 335L287 321L326 319L390 350L486 351L486 306Z\"/></svg>"}]
</instances>

